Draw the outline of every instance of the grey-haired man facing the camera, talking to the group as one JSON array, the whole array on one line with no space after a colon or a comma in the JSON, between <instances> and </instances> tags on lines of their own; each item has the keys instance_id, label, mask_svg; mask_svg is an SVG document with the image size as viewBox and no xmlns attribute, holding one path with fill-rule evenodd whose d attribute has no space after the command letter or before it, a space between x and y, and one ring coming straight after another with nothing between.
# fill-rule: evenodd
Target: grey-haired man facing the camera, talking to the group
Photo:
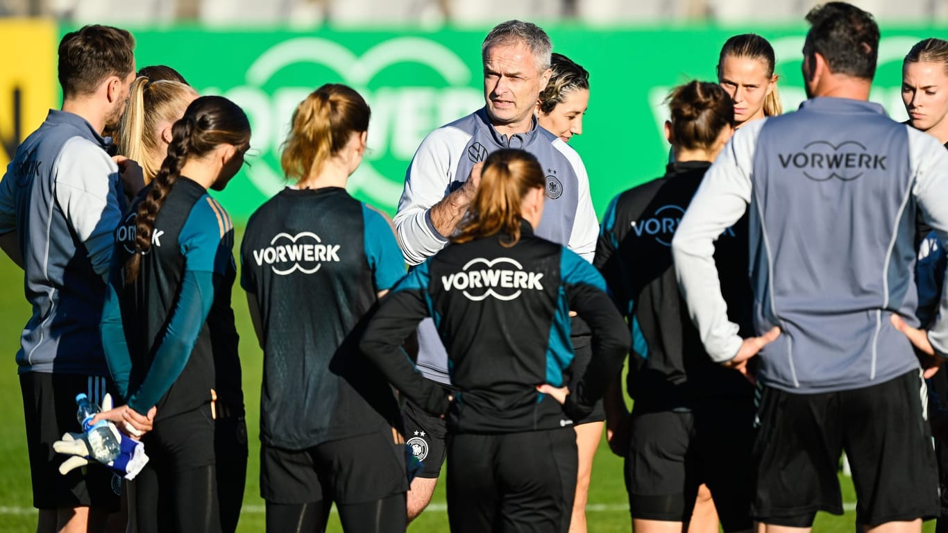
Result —
<instances>
[{"instance_id":1,"label":"grey-haired man facing the camera, talking to the group","mask_svg":"<svg viewBox=\"0 0 948 533\"><path fill-rule=\"evenodd\" d=\"M477 192L483 159L501 148L533 154L546 173L547 199L537 235L593 261L599 224L586 167L573 148L539 127L534 117L539 93L550 79L552 47L542 28L517 20L499 24L484 38L483 108L428 134L405 176L393 223L410 266L447 245ZM588 332L585 324L580 326ZM575 334L578 328L573 327ZM581 359L588 362L588 357ZM428 379L451 386L447 352L430 320L418 327L417 366ZM411 402L405 418L408 444L424 465L408 495L412 520L428 505L438 481L446 427Z\"/></svg>"}]
</instances>

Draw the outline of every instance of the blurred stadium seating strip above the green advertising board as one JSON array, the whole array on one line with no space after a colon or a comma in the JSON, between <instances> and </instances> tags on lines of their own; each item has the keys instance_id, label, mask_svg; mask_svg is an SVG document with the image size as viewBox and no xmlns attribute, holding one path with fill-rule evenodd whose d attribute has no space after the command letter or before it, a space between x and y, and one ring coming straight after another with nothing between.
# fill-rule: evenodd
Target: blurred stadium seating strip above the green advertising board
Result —
<instances>
[{"instance_id":1,"label":"blurred stadium seating strip above the green advertising board","mask_svg":"<svg viewBox=\"0 0 948 533\"><path fill-rule=\"evenodd\" d=\"M881 21L948 21L944 0L851 2ZM480 25L511 18L639 25L656 21L721 24L783 22L803 16L809 0L2 0L0 15L49 16L78 24Z\"/></svg>"}]
</instances>

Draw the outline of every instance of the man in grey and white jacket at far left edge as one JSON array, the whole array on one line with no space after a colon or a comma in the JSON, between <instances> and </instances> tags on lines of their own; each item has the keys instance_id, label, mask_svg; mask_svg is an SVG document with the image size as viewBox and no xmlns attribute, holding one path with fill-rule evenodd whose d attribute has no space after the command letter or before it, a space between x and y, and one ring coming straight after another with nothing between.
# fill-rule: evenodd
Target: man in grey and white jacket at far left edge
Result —
<instances>
[{"instance_id":1,"label":"man in grey and white jacket at far left edge","mask_svg":"<svg viewBox=\"0 0 948 533\"><path fill-rule=\"evenodd\" d=\"M99 465L60 474L65 457L52 443L79 431L76 395L100 401L105 393L105 276L124 193L137 193L142 181L137 164L106 153L101 132L114 129L125 109L134 46L118 28L87 26L64 36L63 109L49 111L0 181L0 248L25 269L33 311L16 362L38 531L98 531L118 510L119 478Z\"/></svg>"}]
</instances>

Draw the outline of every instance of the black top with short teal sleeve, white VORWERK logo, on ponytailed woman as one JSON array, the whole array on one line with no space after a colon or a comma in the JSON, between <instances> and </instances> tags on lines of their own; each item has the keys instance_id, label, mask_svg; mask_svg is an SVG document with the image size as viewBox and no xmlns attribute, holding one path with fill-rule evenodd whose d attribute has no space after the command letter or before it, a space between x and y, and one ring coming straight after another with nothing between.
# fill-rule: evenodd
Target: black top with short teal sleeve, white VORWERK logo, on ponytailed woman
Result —
<instances>
[{"instance_id":1,"label":"black top with short teal sleeve, white VORWERK logo, on ponytailed woman","mask_svg":"<svg viewBox=\"0 0 948 533\"><path fill-rule=\"evenodd\" d=\"M400 429L392 388L358 351L377 293L405 275L385 216L342 188L287 188L250 217L241 264L262 322L264 444Z\"/></svg>"}]
</instances>

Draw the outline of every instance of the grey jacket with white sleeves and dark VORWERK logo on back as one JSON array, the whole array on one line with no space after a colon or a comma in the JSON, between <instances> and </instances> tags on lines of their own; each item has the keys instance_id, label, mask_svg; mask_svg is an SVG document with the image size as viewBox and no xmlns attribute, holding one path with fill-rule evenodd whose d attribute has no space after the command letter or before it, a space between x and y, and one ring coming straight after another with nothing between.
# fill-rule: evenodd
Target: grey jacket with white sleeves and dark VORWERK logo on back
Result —
<instances>
[{"instance_id":1,"label":"grey jacket with white sleeves and dark VORWERK logo on back","mask_svg":"<svg viewBox=\"0 0 948 533\"><path fill-rule=\"evenodd\" d=\"M919 367L889 319L918 325L916 211L948 238L948 151L866 101L816 98L752 122L705 175L672 248L708 354L734 358L712 261L721 231L750 209L755 327L782 334L761 352L759 379L795 393L857 389ZM948 303L940 303L948 317ZM929 340L948 353L948 322Z\"/></svg>"}]
</instances>

